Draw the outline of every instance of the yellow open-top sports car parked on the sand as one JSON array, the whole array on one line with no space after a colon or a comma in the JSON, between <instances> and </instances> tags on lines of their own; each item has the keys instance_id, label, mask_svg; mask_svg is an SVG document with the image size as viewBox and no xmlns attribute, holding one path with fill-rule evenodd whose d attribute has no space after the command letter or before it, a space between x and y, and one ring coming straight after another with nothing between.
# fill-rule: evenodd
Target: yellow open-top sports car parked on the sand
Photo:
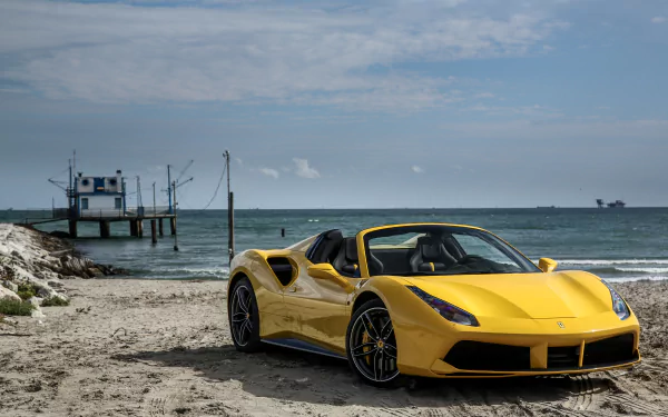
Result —
<instances>
[{"instance_id":1,"label":"yellow open-top sports car parked on the sand","mask_svg":"<svg viewBox=\"0 0 668 417\"><path fill-rule=\"evenodd\" d=\"M265 342L347 358L376 386L401 375L583 374L640 361L626 301L595 275L556 267L470 226L328 230L237 255L229 326L240 351Z\"/></svg>"}]
</instances>

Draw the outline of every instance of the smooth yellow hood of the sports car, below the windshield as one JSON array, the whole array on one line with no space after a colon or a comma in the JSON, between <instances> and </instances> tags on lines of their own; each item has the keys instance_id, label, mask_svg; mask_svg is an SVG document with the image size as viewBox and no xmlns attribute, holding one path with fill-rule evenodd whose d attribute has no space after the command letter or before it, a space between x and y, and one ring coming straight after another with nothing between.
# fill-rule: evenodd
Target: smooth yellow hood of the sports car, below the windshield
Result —
<instances>
[{"instance_id":1,"label":"smooth yellow hood of the sports car, below the windshield","mask_svg":"<svg viewBox=\"0 0 668 417\"><path fill-rule=\"evenodd\" d=\"M406 277L477 317L577 318L610 311L610 291L583 271Z\"/></svg>"}]
</instances>

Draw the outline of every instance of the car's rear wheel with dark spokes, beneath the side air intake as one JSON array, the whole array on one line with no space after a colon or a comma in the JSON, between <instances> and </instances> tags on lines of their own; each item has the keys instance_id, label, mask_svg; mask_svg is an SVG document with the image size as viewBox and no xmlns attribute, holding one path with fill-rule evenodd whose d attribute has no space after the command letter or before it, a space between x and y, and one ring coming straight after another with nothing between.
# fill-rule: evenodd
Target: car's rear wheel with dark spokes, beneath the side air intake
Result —
<instances>
[{"instance_id":1,"label":"car's rear wheel with dark spokes, beneath the side air intake","mask_svg":"<svg viewBox=\"0 0 668 417\"><path fill-rule=\"evenodd\" d=\"M239 279L232 288L228 305L229 331L239 351L257 351L259 340L259 311L255 291L248 278Z\"/></svg>"}]
</instances>

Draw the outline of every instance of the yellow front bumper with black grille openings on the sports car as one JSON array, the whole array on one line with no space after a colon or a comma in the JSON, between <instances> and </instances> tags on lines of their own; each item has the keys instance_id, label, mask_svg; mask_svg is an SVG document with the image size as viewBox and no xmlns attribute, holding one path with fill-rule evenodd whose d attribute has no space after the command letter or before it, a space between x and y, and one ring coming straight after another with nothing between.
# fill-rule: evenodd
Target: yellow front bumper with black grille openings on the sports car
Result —
<instances>
[{"instance_id":1,"label":"yellow front bumper with black grille openings on the sports car","mask_svg":"<svg viewBox=\"0 0 668 417\"><path fill-rule=\"evenodd\" d=\"M395 328L399 369L404 375L424 377L493 378L587 374L640 361L635 316L623 321L613 314L562 319L566 329L576 330L572 332L546 331L556 327L558 319L527 321L522 326L497 322L492 331L484 325L450 322L431 328L404 327L404 332Z\"/></svg>"}]
</instances>

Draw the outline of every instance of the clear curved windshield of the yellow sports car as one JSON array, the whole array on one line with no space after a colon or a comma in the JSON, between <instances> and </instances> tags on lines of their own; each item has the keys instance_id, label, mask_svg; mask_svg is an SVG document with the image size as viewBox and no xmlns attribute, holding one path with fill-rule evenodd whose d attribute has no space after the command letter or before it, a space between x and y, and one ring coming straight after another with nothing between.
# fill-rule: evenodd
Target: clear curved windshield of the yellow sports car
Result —
<instances>
[{"instance_id":1,"label":"clear curved windshield of the yellow sports car","mask_svg":"<svg viewBox=\"0 0 668 417\"><path fill-rule=\"evenodd\" d=\"M364 236L369 274L527 274L540 270L495 236L443 225L402 226Z\"/></svg>"}]
</instances>

